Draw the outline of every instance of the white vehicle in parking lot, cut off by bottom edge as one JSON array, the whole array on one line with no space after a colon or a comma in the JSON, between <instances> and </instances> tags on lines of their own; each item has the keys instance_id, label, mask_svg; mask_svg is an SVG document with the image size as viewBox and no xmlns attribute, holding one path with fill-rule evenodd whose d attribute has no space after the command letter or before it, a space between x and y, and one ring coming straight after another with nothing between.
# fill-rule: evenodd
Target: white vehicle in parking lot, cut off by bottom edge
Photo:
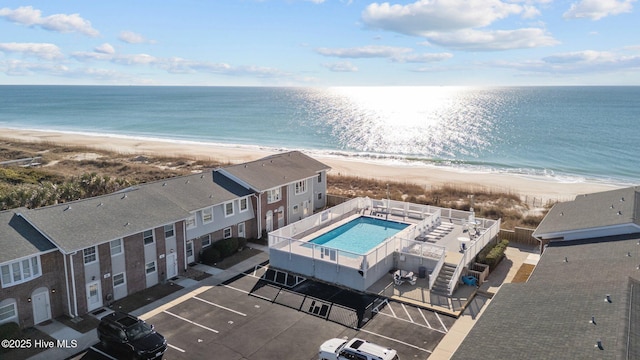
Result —
<instances>
[{"instance_id":1,"label":"white vehicle in parking lot, cut off by bottom edge","mask_svg":"<svg viewBox=\"0 0 640 360\"><path fill-rule=\"evenodd\" d=\"M331 339L320 345L320 360L398 360L395 350L353 338Z\"/></svg>"}]
</instances>

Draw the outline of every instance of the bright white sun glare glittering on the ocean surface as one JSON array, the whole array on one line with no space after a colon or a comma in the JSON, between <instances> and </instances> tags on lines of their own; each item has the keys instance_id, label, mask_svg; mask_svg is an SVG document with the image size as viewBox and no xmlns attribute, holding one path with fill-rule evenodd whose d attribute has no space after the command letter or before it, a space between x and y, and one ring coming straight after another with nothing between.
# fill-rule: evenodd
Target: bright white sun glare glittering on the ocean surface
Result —
<instances>
[{"instance_id":1,"label":"bright white sun glare glittering on the ocean surface","mask_svg":"<svg viewBox=\"0 0 640 360\"><path fill-rule=\"evenodd\" d=\"M334 87L325 120L346 148L421 157L486 146L486 114L465 87Z\"/></svg>"}]
</instances>

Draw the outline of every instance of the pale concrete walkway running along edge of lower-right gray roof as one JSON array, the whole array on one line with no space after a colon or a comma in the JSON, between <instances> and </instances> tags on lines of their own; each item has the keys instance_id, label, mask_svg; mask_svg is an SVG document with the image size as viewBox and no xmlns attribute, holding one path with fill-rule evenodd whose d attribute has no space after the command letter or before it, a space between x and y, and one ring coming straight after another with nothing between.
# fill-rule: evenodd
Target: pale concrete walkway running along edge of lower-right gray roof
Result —
<instances>
[{"instance_id":1,"label":"pale concrete walkway running along edge of lower-right gray roof","mask_svg":"<svg viewBox=\"0 0 640 360\"><path fill-rule=\"evenodd\" d=\"M524 247L518 244L509 245L505 255L506 257L498 267L480 286L479 292L497 293L502 284L510 283L513 280L522 264L535 265L540 259L537 247ZM429 356L429 360L450 359L489 303L491 303L490 297L476 295L462 313L462 316L449 329L447 335L442 338L433 354Z\"/></svg>"}]
</instances>

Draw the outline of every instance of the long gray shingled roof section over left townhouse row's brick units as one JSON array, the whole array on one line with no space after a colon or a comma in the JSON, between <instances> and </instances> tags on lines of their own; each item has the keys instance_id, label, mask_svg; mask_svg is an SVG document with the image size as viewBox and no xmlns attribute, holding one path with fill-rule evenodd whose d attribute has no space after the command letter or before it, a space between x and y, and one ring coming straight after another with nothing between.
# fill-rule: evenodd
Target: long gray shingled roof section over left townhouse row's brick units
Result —
<instances>
[{"instance_id":1,"label":"long gray shingled roof section over left townhouse row's brick units","mask_svg":"<svg viewBox=\"0 0 640 360\"><path fill-rule=\"evenodd\" d=\"M164 196L128 189L119 193L47 206L23 213L66 253L189 217Z\"/></svg>"}]
</instances>

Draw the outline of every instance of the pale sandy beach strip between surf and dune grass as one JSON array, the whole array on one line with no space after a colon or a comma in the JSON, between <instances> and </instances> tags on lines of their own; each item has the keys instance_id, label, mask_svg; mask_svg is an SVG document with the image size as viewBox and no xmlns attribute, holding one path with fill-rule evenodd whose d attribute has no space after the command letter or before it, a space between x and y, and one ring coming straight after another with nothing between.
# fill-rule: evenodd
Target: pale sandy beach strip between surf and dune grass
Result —
<instances>
[{"instance_id":1,"label":"pale sandy beach strip between surf and dune grass","mask_svg":"<svg viewBox=\"0 0 640 360\"><path fill-rule=\"evenodd\" d=\"M273 150L258 147L236 147L195 142L149 140L127 137L110 137L51 131L0 129L0 138L26 142L49 142L57 145L85 146L127 154L213 159L221 162L240 163L274 154ZM316 156L332 168L332 175L351 175L384 181L410 182L427 188L444 184L478 187L492 191L508 191L519 194L527 202L547 200L566 201L576 195L615 189L615 185L602 183L561 183L527 178L513 174L463 172L442 167L382 163L368 160L347 159L333 156Z\"/></svg>"}]
</instances>

